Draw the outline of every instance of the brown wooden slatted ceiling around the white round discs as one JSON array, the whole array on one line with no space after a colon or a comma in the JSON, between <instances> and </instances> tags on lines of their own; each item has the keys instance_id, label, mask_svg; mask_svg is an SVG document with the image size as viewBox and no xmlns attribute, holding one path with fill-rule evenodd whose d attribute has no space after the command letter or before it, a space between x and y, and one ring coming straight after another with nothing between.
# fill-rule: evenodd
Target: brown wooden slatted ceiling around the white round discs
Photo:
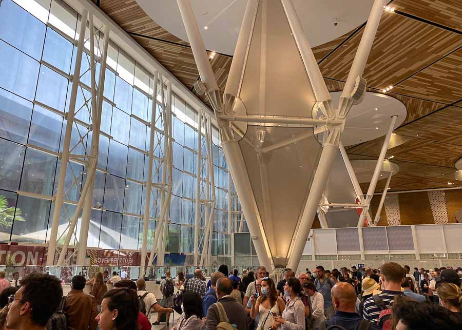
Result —
<instances>
[{"instance_id":1,"label":"brown wooden slatted ceiling around the white round discs","mask_svg":"<svg viewBox=\"0 0 462 330\"><path fill-rule=\"evenodd\" d=\"M392 161L400 166L390 190L448 187L448 180L462 185L455 181L453 164L462 157L462 34L454 31L462 31L462 4L460 0L395 0L392 6L396 12L383 12L364 72L368 91L381 92L393 85L387 94L407 108L407 118L394 131L387 151L387 157L394 156ZM101 0L101 8L192 88L199 74L186 42L153 22L135 0ZM342 90L362 30L313 48L330 91ZM231 61L220 54L211 60L222 91ZM204 96L202 100L206 101ZM379 138L347 147L349 157L376 159L382 143ZM384 183L380 180L376 191ZM366 191L368 185L362 188Z\"/></svg>"}]
</instances>

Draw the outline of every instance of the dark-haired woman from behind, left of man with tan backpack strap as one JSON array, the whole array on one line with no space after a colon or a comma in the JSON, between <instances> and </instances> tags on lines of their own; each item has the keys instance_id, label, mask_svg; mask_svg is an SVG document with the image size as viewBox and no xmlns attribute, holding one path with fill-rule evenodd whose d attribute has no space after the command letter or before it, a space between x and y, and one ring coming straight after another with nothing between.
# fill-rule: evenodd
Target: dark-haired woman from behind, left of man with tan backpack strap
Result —
<instances>
[{"instance_id":1,"label":"dark-haired woman from behind, left of man with tan backpack strap","mask_svg":"<svg viewBox=\"0 0 462 330\"><path fill-rule=\"evenodd\" d=\"M201 297L193 291L183 293L183 308L177 324L171 330L196 330L201 327L202 301Z\"/></svg>"}]
</instances>

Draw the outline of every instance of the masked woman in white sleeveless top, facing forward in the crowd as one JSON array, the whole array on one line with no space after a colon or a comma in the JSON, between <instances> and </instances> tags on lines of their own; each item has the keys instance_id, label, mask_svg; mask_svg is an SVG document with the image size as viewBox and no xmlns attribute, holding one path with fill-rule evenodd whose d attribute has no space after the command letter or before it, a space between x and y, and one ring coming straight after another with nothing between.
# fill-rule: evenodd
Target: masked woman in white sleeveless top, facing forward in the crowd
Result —
<instances>
[{"instance_id":1,"label":"masked woman in white sleeveless top, facing forward in the crowd","mask_svg":"<svg viewBox=\"0 0 462 330\"><path fill-rule=\"evenodd\" d=\"M282 315L285 308L284 301L278 296L274 282L270 278L262 279L261 295L257 299L252 296L251 301L251 318L255 318L257 313L260 314L257 329L268 329L273 324L274 317Z\"/></svg>"}]
</instances>

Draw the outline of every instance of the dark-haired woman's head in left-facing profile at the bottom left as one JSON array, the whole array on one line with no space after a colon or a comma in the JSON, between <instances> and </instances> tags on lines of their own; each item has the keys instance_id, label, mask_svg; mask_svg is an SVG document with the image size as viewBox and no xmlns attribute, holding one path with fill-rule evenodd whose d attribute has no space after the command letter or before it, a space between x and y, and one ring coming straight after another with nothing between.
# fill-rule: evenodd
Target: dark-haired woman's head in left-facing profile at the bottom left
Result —
<instances>
[{"instance_id":1,"label":"dark-haired woman's head in left-facing profile at the bottom left","mask_svg":"<svg viewBox=\"0 0 462 330\"><path fill-rule=\"evenodd\" d=\"M133 330L138 329L138 314L136 291L124 287L106 292L96 320L100 330Z\"/></svg>"}]
</instances>

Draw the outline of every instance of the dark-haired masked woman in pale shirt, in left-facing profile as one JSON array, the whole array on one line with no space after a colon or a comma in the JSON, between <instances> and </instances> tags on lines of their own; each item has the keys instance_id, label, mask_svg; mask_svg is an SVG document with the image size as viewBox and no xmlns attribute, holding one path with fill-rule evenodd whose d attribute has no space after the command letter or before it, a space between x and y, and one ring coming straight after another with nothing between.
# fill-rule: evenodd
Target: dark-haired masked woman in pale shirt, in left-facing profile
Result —
<instances>
[{"instance_id":1,"label":"dark-haired masked woman in pale shirt, in left-facing profile","mask_svg":"<svg viewBox=\"0 0 462 330\"><path fill-rule=\"evenodd\" d=\"M282 317L274 317L274 323L272 324L271 328L275 329L278 325L281 325L281 330L304 330L305 306L300 299L300 281L295 278L288 279L284 285L284 293L287 293L288 296L291 297L291 300L289 300L285 305L284 312L282 312Z\"/></svg>"}]
</instances>

